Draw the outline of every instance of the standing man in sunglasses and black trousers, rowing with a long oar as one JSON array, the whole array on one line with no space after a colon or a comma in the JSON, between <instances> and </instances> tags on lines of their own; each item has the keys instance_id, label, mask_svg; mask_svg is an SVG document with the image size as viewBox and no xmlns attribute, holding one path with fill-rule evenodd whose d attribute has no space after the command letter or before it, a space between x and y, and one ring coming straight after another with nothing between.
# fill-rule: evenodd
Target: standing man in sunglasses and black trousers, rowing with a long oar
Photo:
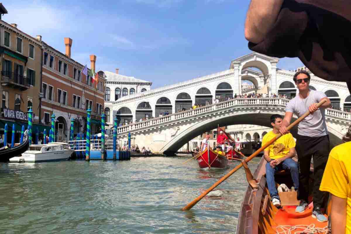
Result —
<instances>
[{"instance_id":1,"label":"standing man in sunglasses and black trousers, rowing with a long oar","mask_svg":"<svg viewBox=\"0 0 351 234\"><path fill-rule=\"evenodd\" d=\"M296 208L296 212L302 213L308 206L309 174L311 158L313 157L314 183L312 217L320 222L326 222L327 218L320 210L323 207L325 192L321 192L319 186L330 151L329 135L325 123L325 108L330 107L331 102L323 92L309 89L310 79L311 76L306 71L295 73L293 80L299 90L299 94L287 103L285 117L279 132L281 134L288 133L286 127L289 126L293 114L300 117L306 111L310 111L311 114L299 123L296 137L296 152L299 168L297 199L300 200L300 205ZM327 101L318 109L317 103L322 99L326 99Z\"/></svg>"}]
</instances>

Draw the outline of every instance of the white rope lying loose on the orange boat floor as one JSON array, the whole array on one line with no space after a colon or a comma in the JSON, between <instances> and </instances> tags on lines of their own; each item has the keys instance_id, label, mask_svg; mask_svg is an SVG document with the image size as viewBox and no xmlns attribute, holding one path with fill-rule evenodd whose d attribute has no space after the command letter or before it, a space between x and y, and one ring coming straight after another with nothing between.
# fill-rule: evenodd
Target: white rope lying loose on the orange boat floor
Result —
<instances>
[{"instance_id":1,"label":"white rope lying loose on the orange boat floor","mask_svg":"<svg viewBox=\"0 0 351 234\"><path fill-rule=\"evenodd\" d=\"M298 230L300 229L300 230ZM325 226L324 228L318 228L314 223L311 225L296 225L296 226L290 226L290 225L279 225L276 228L277 234L315 234L315 233L330 233L328 226Z\"/></svg>"}]
</instances>

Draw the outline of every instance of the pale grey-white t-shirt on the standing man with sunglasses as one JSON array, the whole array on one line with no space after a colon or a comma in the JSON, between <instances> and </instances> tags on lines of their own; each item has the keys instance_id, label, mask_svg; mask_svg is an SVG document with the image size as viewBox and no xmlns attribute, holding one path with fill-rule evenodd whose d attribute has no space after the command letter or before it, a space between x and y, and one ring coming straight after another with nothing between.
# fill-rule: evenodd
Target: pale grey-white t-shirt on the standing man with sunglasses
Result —
<instances>
[{"instance_id":1,"label":"pale grey-white t-shirt on the standing man with sunglasses","mask_svg":"<svg viewBox=\"0 0 351 234\"><path fill-rule=\"evenodd\" d=\"M312 103L318 103L324 97L326 97L325 93L310 89L307 98L302 99L300 95L297 95L291 99L289 103L287 103L285 111L292 112L298 117L301 117L308 111L308 108ZM316 112L303 119L299 123L297 134L309 137L327 135L328 130L325 124L325 108L318 108Z\"/></svg>"}]
</instances>

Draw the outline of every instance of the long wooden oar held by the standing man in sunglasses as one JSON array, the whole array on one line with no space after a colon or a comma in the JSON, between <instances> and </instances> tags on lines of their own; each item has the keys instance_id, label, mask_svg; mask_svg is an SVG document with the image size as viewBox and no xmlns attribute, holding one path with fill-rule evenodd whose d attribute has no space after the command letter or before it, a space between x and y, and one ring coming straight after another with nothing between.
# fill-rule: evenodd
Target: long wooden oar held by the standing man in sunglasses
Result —
<instances>
[{"instance_id":1,"label":"long wooden oar held by the standing man in sunglasses","mask_svg":"<svg viewBox=\"0 0 351 234\"><path fill-rule=\"evenodd\" d=\"M326 99L323 99L322 101L320 101L319 103L317 103L317 108L319 108L321 105L323 105L323 103L326 102ZM286 129L287 131L289 131L292 127L294 127L295 125L297 125L299 122L301 122L303 119L306 118L306 116L308 116L310 114L310 111L307 111L305 114L303 114L300 118L298 118L297 120L295 120L293 123L291 123L291 125L289 125ZM245 159L245 162L249 162L251 159L253 159L254 157L256 157L261 151L263 151L265 148L267 148L268 146L270 146L274 141L276 141L278 138L280 138L280 136L282 136L282 134L278 134L276 137L274 137L272 140L270 140L269 142L267 142L264 146L262 146L261 148L259 148L256 152L254 152L253 154L251 154L248 158ZM186 205L185 207L183 207L181 210L190 210L193 206L196 205L196 203L198 203L201 199L204 198L204 196L206 196L209 192L211 192L214 188L216 188L218 185L220 185L220 183L222 183L223 181L225 181L229 176L231 176L234 172L238 171L240 169L240 167L243 166L243 163L239 163L238 166L234 167L229 173L227 173L225 176L223 176L220 180L218 180L216 183L214 183L209 189L207 189L205 192L203 192L200 196L198 196L196 199L194 199L192 202L190 202L188 205Z\"/></svg>"}]
</instances>

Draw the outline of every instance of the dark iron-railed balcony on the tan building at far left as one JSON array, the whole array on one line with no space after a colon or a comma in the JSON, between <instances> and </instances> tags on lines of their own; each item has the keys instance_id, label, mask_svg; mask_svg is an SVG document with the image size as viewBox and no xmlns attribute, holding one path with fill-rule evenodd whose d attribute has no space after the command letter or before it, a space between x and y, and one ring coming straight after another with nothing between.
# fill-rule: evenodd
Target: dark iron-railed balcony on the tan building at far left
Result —
<instances>
[{"instance_id":1,"label":"dark iron-railed balcony on the tan building at far left","mask_svg":"<svg viewBox=\"0 0 351 234\"><path fill-rule=\"evenodd\" d=\"M9 71L1 71L1 85L10 86L12 88L26 90L31 87L31 80L26 76L16 74Z\"/></svg>"}]
</instances>

